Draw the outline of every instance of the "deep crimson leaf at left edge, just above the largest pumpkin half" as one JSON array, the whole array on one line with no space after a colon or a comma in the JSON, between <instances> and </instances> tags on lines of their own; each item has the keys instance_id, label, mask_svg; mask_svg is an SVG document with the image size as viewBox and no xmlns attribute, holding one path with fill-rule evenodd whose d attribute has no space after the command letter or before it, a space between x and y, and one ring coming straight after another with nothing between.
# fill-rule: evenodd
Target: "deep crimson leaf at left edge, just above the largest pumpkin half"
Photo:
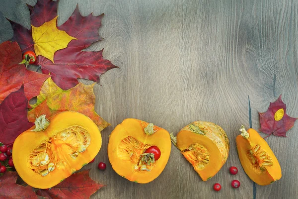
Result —
<instances>
[{"instance_id":1,"label":"deep crimson leaf at left edge, just above the largest pumpkin half","mask_svg":"<svg viewBox=\"0 0 298 199\"><path fill-rule=\"evenodd\" d=\"M19 134L34 125L28 121L27 105L23 86L0 104L0 142L11 145Z\"/></svg>"}]
</instances>

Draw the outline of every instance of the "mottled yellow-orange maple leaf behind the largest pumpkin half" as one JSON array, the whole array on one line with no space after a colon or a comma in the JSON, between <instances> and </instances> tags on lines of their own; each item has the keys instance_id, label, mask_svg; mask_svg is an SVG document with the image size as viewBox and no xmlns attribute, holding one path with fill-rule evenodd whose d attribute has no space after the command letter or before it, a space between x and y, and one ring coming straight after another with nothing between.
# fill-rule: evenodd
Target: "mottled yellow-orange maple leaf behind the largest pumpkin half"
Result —
<instances>
[{"instance_id":1,"label":"mottled yellow-orange maple leaf behind the largest pumpkin half","mask_svg":"<svg viewBox=\"0 0 298 199\"><path fill-rule=\"evenodd\" d=\"M29 111L29 119L37 118L40 114L46 113L50 117L53 110L74 110L90 117L101 131L110 124L103 120L94 110L95 95L93 87L94 84L84 85L79 83L74 88L65 91L49 78L43 84L40 94L37 96L37 102L31 105L34 109ZM48 108L45 108L44 104L42 104L45 100L47 100ZM41 112L38 106L40 104L43 106L42 109L46 110L45 113Z\"/></svg>"}]
</instances>

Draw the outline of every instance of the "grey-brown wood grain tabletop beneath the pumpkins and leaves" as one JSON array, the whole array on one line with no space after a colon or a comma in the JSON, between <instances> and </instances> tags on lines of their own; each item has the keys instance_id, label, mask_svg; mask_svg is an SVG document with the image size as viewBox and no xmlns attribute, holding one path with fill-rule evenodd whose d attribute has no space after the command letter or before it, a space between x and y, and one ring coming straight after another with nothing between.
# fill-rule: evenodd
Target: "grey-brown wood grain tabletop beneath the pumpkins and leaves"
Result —
<instances>
[{"instance_id":1,"label":"grey-brown wood grain tabletop beneath the pumpkins and leaves","mask_svg":"<svg viewBox=\"0 0 298 199\"><path fill-rule=\"evenodd\" d=\"M30 27L24 2L1 0L5 17ZM91 177L107 186L92 199L253 199L253 182L244 173L235 137L241 124L258 129L258 111L282 94L287 113L298 117L298 1L297 0L60 0L58 24L74 11L105 13L99 34L104 57L119 66L102 75L96 85L96 111L112 125L102 131L103 145ZM0 41L12 35L0 16ZM82 81L89 83L88 81ZM161 175L149 184L136 184L117 175L109 164L108 135L123 119L133 117L176 134L195 120L212 121L230 140L229 158L221 171L203 182L179 151ZM283 177L257 186L257 199L298 198L298 123L288 138L266 141L276 154ZM263 137L265 134L260 133ZM97 170L104 161L107 169ZM239 173L228 173L236 166ZM239 189L230 183L237 179ZM222 190L214 192L213 184Z\"/></svg>"}]
</instances>

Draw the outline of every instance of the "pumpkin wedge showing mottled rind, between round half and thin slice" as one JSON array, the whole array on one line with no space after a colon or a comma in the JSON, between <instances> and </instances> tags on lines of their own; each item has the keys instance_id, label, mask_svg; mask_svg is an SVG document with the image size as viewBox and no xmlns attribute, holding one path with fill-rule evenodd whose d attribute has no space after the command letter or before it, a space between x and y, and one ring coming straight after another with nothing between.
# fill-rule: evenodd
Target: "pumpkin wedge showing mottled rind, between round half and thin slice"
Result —
<instances>
[{"instance_id":1,"label":"pumpkin wedge showing mottled rind, between round half and thin slice","mask_svg":"<svg viewBox=\"0 0 298 199\"><path fill-rule=\"evenodd\" d=\"M192 164L203 181L216 175L229 152L229 141L222 127L206 121L195 121L182 128L172 142Z\"/></svg>"}]
</instances>

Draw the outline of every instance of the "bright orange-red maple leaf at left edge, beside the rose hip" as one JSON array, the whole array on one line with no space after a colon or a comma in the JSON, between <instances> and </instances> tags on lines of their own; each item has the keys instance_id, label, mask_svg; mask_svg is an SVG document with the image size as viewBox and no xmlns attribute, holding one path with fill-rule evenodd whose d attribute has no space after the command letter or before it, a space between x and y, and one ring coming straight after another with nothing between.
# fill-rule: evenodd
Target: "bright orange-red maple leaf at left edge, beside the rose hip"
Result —
<instances>
[{"instance_id":1,"label":"bright orange-red maple leaf at left edge, beside the rose hip","mask_svg":"<svg viewBox=\"0 0 298 199\"><path fill-rule=\"evenodd\" d=\"M43 82L50 77L27 70L24 64L18 64L21 61L21 49L16 42L0 44L0 103L22 85L26 98L30 100L39 94Z\"/></svg>"}]
</instances>

